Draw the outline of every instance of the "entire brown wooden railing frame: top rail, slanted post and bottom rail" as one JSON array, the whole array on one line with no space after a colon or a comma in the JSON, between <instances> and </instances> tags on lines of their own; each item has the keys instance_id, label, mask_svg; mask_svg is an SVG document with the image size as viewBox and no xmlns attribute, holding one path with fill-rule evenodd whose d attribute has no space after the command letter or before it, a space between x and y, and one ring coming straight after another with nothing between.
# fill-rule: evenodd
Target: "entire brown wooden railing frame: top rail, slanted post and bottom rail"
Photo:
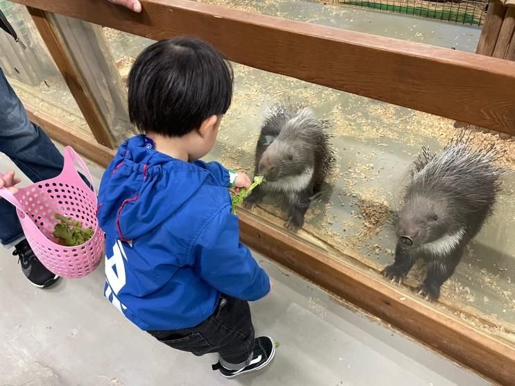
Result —
<instances>
[{"instance_id":1,"label":"entire brown wooden railing frame: top rail, slanted post and bottom rail","mask_svg":"<svg viewBox=\"0 0 515 386\"><path fill-rule=\"evenodd\" d=\"M46 12L160 40L195 35L257 69L515 134L515 63L347 30L254 15L186 0L142 1L134 14L104 0L15 0L30 7L53 58L63 59ZM44 11L44 12L42 12ZM80 74L60 67L88 114ZM107 164L112 150L89 143L29 108L53 138ZM96 130L105 130L99 124ZM110 139L96 132L96 137ZM392 287L374 272L336 260L283 229L239 211L241 238L275 261L377 315L429 346L505 385L515 380L515 349L470 324ZM351 256L350 256L351 257Z\"/></svg>"}]
</instances>

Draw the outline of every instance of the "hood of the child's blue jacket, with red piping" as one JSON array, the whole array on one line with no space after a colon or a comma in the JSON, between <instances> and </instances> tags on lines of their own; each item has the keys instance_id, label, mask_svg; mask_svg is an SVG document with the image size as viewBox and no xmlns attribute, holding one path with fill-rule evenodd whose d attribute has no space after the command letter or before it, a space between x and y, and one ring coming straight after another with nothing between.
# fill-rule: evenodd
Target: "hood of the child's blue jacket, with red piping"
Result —
<instances>
[{"instance_id":1,"label":"hood of the child's blue jacket, with red piping","mask_svg":"<svg viewBox=\"0 0 515 386\"><path fill-rule=\"evenodd\" d=\"M146 148L143 138L123 143L98 193L99 225L123 241L162 225L209 177L204 168Z\"/></svg>"}]
</instances>

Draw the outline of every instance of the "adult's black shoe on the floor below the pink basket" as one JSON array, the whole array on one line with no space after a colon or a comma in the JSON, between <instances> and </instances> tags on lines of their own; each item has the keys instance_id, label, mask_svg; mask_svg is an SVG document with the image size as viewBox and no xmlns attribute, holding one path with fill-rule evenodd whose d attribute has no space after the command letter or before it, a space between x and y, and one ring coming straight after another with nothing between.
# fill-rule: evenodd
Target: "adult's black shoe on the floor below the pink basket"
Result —
<instances>
[{"instance_id":1,"label":"adult's black shoe on the floor below the pink basket","mask_svg":"<svg viewBox=\"0 0 515 386\"><path fill-rule=\"evenodd\" d=\"M37 260L27 240L17 243L15 252L12 254L19 256L18 263L21 264L21 271L37 288L47 288L59 280L58 275L47 270L41 261Z\"/></svg>"}]
</instances>

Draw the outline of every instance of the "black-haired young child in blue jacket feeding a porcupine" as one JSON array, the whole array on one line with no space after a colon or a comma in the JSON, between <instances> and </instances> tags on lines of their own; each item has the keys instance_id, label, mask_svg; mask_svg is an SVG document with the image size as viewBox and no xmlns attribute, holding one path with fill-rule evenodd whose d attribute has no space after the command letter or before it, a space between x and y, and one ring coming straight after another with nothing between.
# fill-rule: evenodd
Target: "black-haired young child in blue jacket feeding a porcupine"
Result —
<instances>
[{"instance_id":1,"label":"black-haired young child in blue jacket feeding a porcupine","mask_svg":"<svg viewBox=\"0 0 515 386\"><path fill-rule=\"evenodd\" d=\"M103 175L98 219L106 234L105 296L157 340L233 378L270 363L254 339L247 301L270 279L239 242L228 188L244 173L199 159L213 148L232 101L230 64L200 40L152 44L129 75L129 112L143 133L125 141Z\"/></svg>"}]
</instances>

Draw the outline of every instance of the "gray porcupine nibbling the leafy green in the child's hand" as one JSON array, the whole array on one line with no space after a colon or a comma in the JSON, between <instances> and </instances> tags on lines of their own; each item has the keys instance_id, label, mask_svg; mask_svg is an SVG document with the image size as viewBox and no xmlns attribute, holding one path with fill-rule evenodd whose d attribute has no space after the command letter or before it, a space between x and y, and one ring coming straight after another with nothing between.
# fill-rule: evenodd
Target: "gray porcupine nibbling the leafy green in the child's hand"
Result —
<instances>
[{"instance_id":1,"label":"gray porcupine nibbling the leafy green in the child's hand","mask_svg":"<svg viewBox=\"0 0 515 386\"><path fill-rule=\"evenodd\" d=\"M300 229L335 161L328 126L329 121L317 119L304 105L280 103L269 109L256 143L254 170L265 182L246 198L245 207L254 207L266 193L282 195L289 202L286 227Z\"/></svg>"}]
</instances>

